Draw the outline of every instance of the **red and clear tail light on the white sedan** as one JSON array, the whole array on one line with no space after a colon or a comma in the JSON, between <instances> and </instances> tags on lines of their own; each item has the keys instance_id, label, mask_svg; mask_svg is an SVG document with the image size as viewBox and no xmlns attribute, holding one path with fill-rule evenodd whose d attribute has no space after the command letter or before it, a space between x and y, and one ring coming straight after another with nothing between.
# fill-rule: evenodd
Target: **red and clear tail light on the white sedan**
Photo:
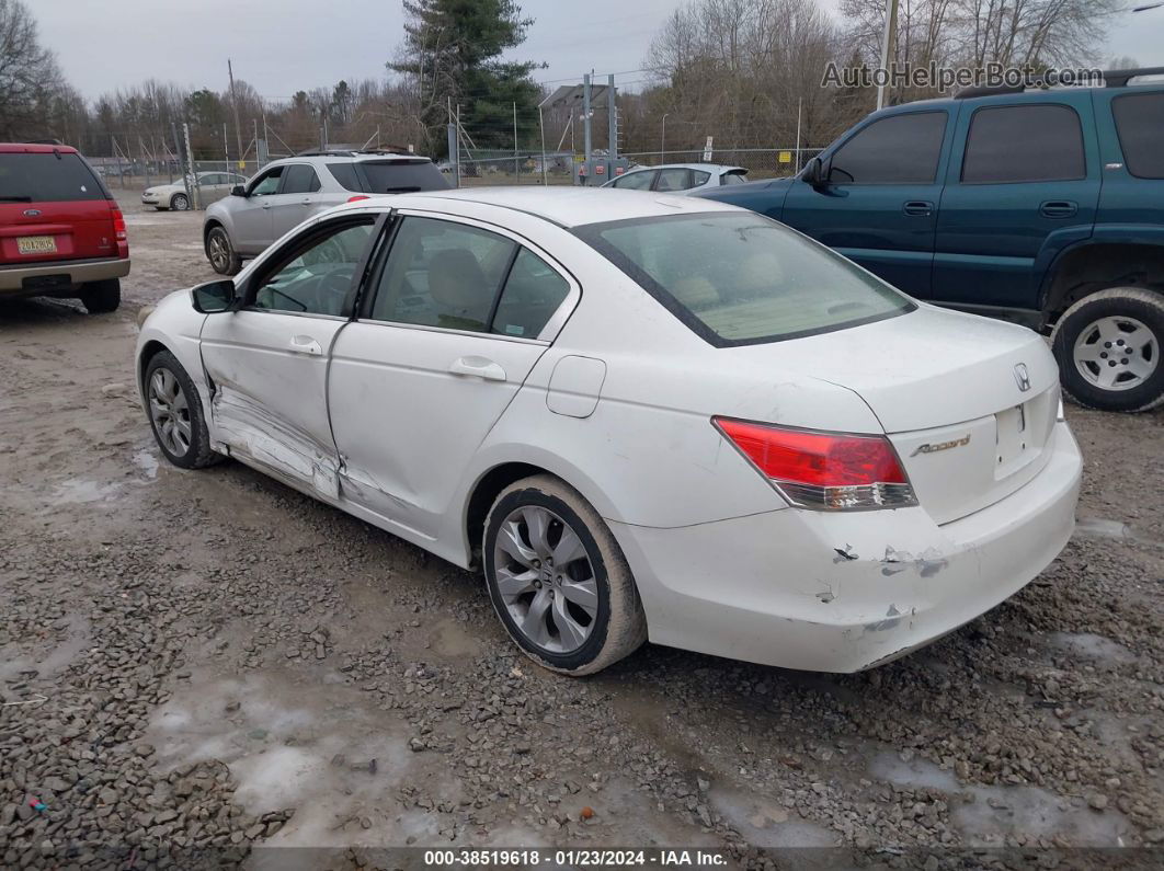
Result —
<instances>
[{"instance_id":1,"label":"red and clear tail light on the white sedan","mask_svg":"<svg viewBox=\"0 0 1164 871\"><path fill-rule=\"evenodd\" d=\"M793 505L829 511L917 505L885 436L812 433L729 417L712 417L712 423Z\"/></svg>"}]
</instances>

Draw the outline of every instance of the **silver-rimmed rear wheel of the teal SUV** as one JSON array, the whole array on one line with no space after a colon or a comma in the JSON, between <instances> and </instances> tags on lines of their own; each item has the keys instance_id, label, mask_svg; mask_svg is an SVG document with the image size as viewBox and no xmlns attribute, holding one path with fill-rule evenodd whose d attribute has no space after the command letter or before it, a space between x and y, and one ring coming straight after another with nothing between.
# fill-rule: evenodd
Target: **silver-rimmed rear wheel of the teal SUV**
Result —
<instances>
[{"instance_id":1,"label":"silver-rimmed rear wheel of the teal SUV","mask_svg":"<svg viewBox=\"0 0 1164 871\"><path fill-rule=\"evenodd\" d=\"M1064 392L1105 412L1147 412L1164 402L1164 297L1109 287L1063 313L1051 347Z\"/></svg>"}]
</instances>

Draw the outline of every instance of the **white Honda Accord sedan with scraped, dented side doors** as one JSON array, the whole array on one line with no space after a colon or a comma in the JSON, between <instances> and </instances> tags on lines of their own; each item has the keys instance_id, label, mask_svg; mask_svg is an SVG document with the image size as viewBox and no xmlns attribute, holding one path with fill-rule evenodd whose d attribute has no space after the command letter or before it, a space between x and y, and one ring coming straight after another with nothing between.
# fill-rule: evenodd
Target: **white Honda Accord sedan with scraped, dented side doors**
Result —
<instances>
[{"instance_id":1,"label":"white Honda Accord sedan with scraped, dented side doors","mask_svg":"<svg viewBox=\"0 0 1164 871\"><path fill-rule=\"evenodd\" d=\"M572 674L646 638L887 662L1042 571L1081 469L1038 335L686 197L341 206L166 297L137 372L175 465L234 457L480 566Z\"/></svg>"}]
</instances>

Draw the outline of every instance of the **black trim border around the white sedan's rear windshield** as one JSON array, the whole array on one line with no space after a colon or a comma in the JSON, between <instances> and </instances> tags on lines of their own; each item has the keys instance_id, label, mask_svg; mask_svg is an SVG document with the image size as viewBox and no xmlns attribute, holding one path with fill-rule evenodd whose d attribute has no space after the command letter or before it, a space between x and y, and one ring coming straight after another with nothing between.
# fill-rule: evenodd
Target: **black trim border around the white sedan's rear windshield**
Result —
<instances>
[{"instance_id":1,"label":"black trim border around the white sedan's rear windshield","mask_svg":"<svg viewBox=\"0 0 1164 871\"><path fill-rule=\"evenodd\" d=\"M731 212L707 212L707 213L690 213L682 215L658 215L652 220L655 221L687 221L691 217L701 216L704 219L716 219L716 217L737 217L736 214ZM772 221L769 217L757 214L757 217L764 221L771 221L772 223L778 223ZM753 338L724 338L714 329L708 327L703 321L696 317L691 312L687 309L679 300L676 300L665 287L656 283L646 271L640 269L634 262L626 257L622 251L619 251L615 245L610 244L602 237L602 231L611 227L618 227L619 224L627 223L641 223L643 217L625 217L618 221L603 221L599 223L584 223L577 227L570 228L570 233L577 236L582 242L588 244L595 251L601 254L608 260L610 260L615 266L617 266L627 278L634 281L643 292L654 299L660 306L670 312L676 320L679 320L683 326L690 329L696 336L702 338L712 348L743 348L752 344L774 344L775 342L789 342L794 338L805 338L808 336L819 336L825 333L838 333L844 329L852 329L854 327L863 327L866 323L876 323L878 321L887 321L890 317L899 317L901 315L909 314L910 312L917 310L917 304L913 298L894 288L904 299L906 305L893 312L882 312L880 314L867 315L865 317L857 317L852 321L845 321L844 323L832 324L829 327L817 327L815 329L796 330L795 333L786 333L779 336L755 336ZM778 224L782 226L782 224ZM805 236L803 233L793 229L792 227L785 227L785 229L797 234L807 238L812 244L819 245L821 243L816 240ZM824 250L829 251L840 259L845 259L842 255L833 251L828 245L821 245ZM856 269L861 269L853 264ZM875 278L875 276L874 276ZM882 280L878 278L878 280Z\"/></svg>"}]
</instances>

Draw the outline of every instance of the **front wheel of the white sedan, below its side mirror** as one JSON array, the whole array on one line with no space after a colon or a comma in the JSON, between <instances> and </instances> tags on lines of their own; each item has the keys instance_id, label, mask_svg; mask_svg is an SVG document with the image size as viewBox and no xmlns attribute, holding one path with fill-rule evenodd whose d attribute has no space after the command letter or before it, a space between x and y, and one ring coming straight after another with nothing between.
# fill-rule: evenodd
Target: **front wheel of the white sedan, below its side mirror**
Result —
<instances>
[{"instance_id":1,"label":"front wheel of the white sedan, below its side mirror","mask_svg":"<svg viewBox=\"0 0 1164 871\"><path fill-rule=\"evenodd\" d=\"M146 366L142 392L150 428L162 454L182 469L201 469L221 457L211 450L211 436L198 388L178 358L158 351Z\"/></svg>"}]
</instances>

